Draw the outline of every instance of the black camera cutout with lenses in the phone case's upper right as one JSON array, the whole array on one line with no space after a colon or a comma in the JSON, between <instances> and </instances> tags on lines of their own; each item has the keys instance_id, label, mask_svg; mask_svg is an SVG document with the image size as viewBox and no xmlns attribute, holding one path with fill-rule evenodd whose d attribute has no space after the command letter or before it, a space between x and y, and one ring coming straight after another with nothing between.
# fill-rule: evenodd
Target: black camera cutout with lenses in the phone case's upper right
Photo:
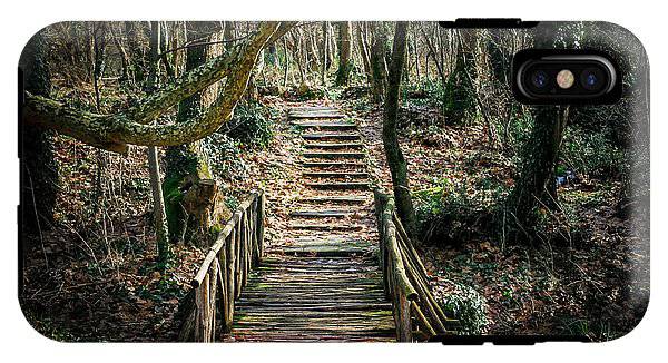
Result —
<instances>
[{"instance_id":1,"label":"black camera cutout with lenses in the phone case's upper right","mask_svg":"<svg viewBox=\"0 0 668 363\"><path fill-rule=\"evenodd\" d=\"M607 56L587 50L522 50L513 58L513 92L531 105L613 104L621 79Z\"/></svg>"}]
</instances>

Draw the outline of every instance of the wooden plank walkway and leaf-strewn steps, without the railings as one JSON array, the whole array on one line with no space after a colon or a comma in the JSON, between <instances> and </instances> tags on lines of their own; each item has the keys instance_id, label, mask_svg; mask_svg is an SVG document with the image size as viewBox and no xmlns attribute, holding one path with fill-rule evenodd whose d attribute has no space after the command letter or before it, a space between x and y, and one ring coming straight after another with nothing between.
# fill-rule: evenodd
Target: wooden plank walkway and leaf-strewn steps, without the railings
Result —
<instances>
[{"instance_id":1,"label":"wooden plank walkway and leaf-strewn steps, without the railings","mask_svg":"<svg viewBox=\"0 0 668 363\"><path fill-rule=\"evenodd\" d=\"M394 341L357 126L327 107L288 117L304 140L301 199L274 206L292 210L286 245L267 248L249 274L227 339Z\"/></svg>"}]
</instances>

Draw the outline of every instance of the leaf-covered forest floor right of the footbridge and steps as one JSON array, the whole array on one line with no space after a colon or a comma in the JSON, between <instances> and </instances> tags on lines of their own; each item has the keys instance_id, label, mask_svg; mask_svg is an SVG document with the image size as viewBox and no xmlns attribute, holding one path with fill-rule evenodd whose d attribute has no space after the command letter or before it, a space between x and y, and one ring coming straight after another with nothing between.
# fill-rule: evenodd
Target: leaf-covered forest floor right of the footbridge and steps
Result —
<instances>
[{"instance_id":1,"label":"leaf-covered forest floor right of the footbridge and steps","mask_svg":"<svg viewBox=\"0 0 668 363\"><path fill-rule=\"evenodd\" d=\"M358 106L347 105L364 120L376 176L391 190L382 110ZM438 294L461 293L464 285L483 297L477 313L484 314L481 333L601 341L625 335L638 324L649 298L649 241L635 236L638 226L618 213L618 180L582 177L560 187L560 204L570 217L550 223L547 237L533 245L507 242L489 210L498 190L513 185L507 153L490 147L480 125L416 131L407 125L425 124L415 118L436 118L438 111L404 105L402 114L400 145L412 190L446 185L462 205L453 208L458 217L448 220L449 230L420 248L422 257Z\"/></svg>"}]
</instances>

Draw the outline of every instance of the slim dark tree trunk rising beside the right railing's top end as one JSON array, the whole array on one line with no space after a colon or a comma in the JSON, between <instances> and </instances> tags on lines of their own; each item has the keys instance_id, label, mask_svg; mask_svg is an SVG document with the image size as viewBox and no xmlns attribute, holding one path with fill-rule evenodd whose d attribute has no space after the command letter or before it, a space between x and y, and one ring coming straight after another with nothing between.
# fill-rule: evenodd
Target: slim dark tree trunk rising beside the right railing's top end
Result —
<instances>
[{"instance_id":1,"label":"slim dark tree trunk rising beside the right railing's top end","mask_svg":"<svg viewBox=\"0 0 668 363\"><path fill-rule=\"evenodd\" d=\"M399 91L406 52L406 29L407 22L396 23L394 46L392 49L392 63L390 65L390 73L387 77L387 94L385 96L383 146L385 148L390 173L392 174L396 212L404 223L410 237L414 239L416 234L416 219L413 202L411 199L411 188L409 186L409 169L396 135Z\"/></svg>"}]
</instances>

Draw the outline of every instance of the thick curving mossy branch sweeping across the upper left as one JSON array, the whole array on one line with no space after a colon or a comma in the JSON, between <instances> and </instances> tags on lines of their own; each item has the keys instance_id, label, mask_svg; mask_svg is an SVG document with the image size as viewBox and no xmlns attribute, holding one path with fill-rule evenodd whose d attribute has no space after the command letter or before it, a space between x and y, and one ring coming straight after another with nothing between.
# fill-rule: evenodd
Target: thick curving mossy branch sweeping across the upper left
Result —
<instances>
[{"instance_id":1,"label":"thick curving mossy branch sweeping across the upper left","mask_svg":"<svg viewBox=\"0 0 668 363\"><path fill-rule=\"evenodd\" d=\"M204 138L232 118L262 49L281 38L294 22L265 22L229 52L186 72L126 111L100 115L26 92L23 121L55 129L91 146L126 154L128 145L173 146ZM155 125L151 121L180 100L226 79L223 96L202 115L186 122Z\"/></svg>"}]
</instances>

